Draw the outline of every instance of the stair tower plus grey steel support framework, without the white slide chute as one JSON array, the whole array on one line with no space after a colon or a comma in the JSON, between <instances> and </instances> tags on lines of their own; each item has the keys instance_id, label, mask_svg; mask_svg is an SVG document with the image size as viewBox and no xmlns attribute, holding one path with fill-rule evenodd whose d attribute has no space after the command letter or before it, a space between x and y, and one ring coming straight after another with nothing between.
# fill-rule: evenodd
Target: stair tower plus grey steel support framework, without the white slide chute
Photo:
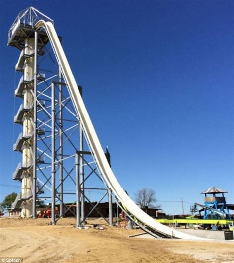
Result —
<instances>
[{"instance_id":1,"label":"stair tower plus grey steel support framework, without the white slide chute","mask_svg":"<svg viewBox=\"0 0 234 263\"><path fill-rule=\"evenodd\" d=\"M81 227L93 210L104 217L97 206L108 197L109 220L104 219L113 225L112 192L85 139L47 34L43 28L34 28L40 19L53 23L29 7L19 13L8 32L8 46L21 51L15 69L23 73L15 89L15 96L23 103L14 118L15 123L23 126L23 132L13 147L22 153L22 161L13 173L13 179L22 184L22 192L12 203L12 209L21 207L22 216L36 218L38 201L51 200L48 207L52 210L52 225L70 211L77 217L76 226ZM82 96L82 87L78 89ZM106 156L110 164L108 150ZM95 205L86 194L90 190L104 191ZM67 205L71 196L73 202ZM91 205L86 215L85 200ZM57 205L59 215L55 213Z\"/></svg>"}]
</instances>

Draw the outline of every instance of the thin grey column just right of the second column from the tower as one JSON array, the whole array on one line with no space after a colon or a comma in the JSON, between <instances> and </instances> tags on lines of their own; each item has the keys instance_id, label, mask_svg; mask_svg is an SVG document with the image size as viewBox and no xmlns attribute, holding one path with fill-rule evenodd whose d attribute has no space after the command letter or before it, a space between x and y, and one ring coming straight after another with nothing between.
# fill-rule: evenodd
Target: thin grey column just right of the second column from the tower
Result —
<instances>
[{"instance_id":1,"label":"thin grey column just right of the second column from the tower","mask_svg":"<svg viewBox=\"0 0 234 263\"><path fill-rule=\"evenodd\" d=\"M62 83L62 71L59 67L59 82ZM59 198L60 216L63 217L64 206L63 206L63 106L62 106L62 85L59 85Z\"/></svg>"}]
</instances>

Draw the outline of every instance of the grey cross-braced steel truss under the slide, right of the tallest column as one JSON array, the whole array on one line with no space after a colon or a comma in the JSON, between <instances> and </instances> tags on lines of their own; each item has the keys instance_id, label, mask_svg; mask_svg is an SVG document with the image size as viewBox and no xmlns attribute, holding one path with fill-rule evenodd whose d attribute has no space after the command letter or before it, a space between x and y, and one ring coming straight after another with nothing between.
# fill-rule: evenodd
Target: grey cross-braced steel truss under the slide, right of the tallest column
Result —
<instances>
[{"instance_id":1,"label":"grey cross-braced steel truss under the slide, right of the tallest column","mask_svg":"<svg viewBox=\"0 0 234 263\"><path fill-rule=\"evenodd\" d=\"M81 219L79 217L80 220L80 224L84 225L85 224L85 219L93 212L93 210L96 210L100 216L102 216L106 221L107 219L103 216L103 214L97 209L98 204L108 195L109 196L109 221L107 221L108 224L113 225L113 217L112 217L112 196L111 196L111 190L106 188L85 188L84 187L84 183L90 178L91 175L95 175L97 178L100 179L100 181L103 183L103 179L102 177L99 175L99 173L97 172L97 167L92 167L91 164L95 163L94 161L88 161L85 159L85 155L90 155L92 156L92 153L90 151L83 151L83 131L82 131L82 127L79 126L79 119L78 116L76 115L76 112L74 112L74 109L72 108L72 105L70 104L71 102L71 97L70 95L68 95L68 97L65 97L63 94L63 87L66 88L66 83L62 82L62 77L61 74L59 73L59 78L60 81L55 81L53 80L51 83L46 83L46 87L44 87L41 91L37 90L37 96L36 96L36 102L39 104L39 98L46 96L46 102L49 105L43 106L42 104L40 104L40 108L37 111L38 112L43 112L45 117L43 118L43 120L39 120L37 119L37 121L39 120L40 124L37 127L37 123L34 122L34 127L36 127L35 130L37 130L38 128L43 128L43 126L46 126L47 128L49 128L50 132L51 130L51 135L49 136L41 136L39 135L39 139L37 139L37 141L41 141L45 148L41 149L39 147L37 147L37 151L40 152L40 154L37 153L38 159L41 158L43 155L45 155L45 157L49 158L51 160L51 163L44 163L46 166L44 166L43 168L40 167L40 165L38 165L38 163L36 162L36 166L37 166L37 173L41 172L42 175L44 176L44 178L46 179L45 182L42 182L40 180L40 183L43 183L42 187L46 187L49 190L51 190L51 209L52 209L52 215L51 215L51 224L56 224L56 222L62 218L69 210L71 211L71 213L75 216L77 216L72 210L71 208L75 205L76 203L76 207L79 211L81 211ZM46 80L45 80L46 82ZM80 93L82 94L82 87L78 86ZM51 91L51 96L49 96L48 94L45 94L46 91L50 90ZM56 90L58 93L58 96L56 96ZM51 103L51 104L50 104ZM72 123L72 125L70 127L68 127L67 129L63 129L63 112L64 110L68 110L68 112L77 119L77 121L72 120L72 119L65 119L66 121L69 121ZM50 112L51 111L51 112ZM49 125L48 123L51 122L51 125ZM74 124L75 123L75 124ZM70 139L70 137L73 135L73 133L77 130L77 128L79 129L79 148L80 150L77 149L77 147L75 146L75 144L73 143L73 141ZM69 133L68 133L69 132ZM35 137L36 138L36 137ZM47 143L47 139L51 139L51 142ZM59 143L57 143L57 147L56 147L56 141L59 141ZM63 147L65 145L66 142L69 142L71 147L76 151L75 154L64 154L63 151ZM36 149L36 148L35 148ZM46 151L49 150L49 152L51 153L50 155L46 153ZM78 164L74 164L73 166L70 167L70 169L66 169L65 166L63 165L65 160L68 160L70 158L74 158L76 157L78 154ZM59 156L59 157L57 157ZM109 152L106 153L106 156L108 158L108 160L110 160L110 154ZM77 165L79 167L79 169L77 170ZM87 166L91 171L88 173L88 175L85 177L84 174L84 166ZM45 169L51 169L51 175L49 177L47 177L45 175L45 172L42 170ZM76 181L73 179L73 177L71 176L72 172L76 170ZM56 172L59 171L59 184L56 185ZM77 174L78 174L78 178L79 181L77 181ZM37 176L36 176L37 177ZM64 201L64 195L66 194L76 194L74 193L66 193L63 190L63 184L65 182L65 180L67 180L67 178L70 178L72 183L75 185L76 190L80 189L80 204L81 204L81 209L78 208L78 203L77 200L74 201L70 206L67 206ZM79 183L78 183L79 182ZM51 188L48 187L48 184L51 186ZM79 185L78 185L79 184ZM106 186L106 185L105 185ZM90 201L90 199L86 196L85 194L85 190L105 190L106 193L98 200L98 202L93 205L92 202ZM37 193L36 193L37 195ZM35 200L38 200L38 196L35 197ZM85 200L88 201L88 203L92 206L92 209L89 211L89 213L87 215L85 215L85 209L84 209L84 205L85 205ZM60 215L56 218L56 201L60 202ZM34 204L33 204L34 205ZM36 203L35 203L36 205ZM35 215L36 217L36 215Z\"/></svg>"}]
</instances>

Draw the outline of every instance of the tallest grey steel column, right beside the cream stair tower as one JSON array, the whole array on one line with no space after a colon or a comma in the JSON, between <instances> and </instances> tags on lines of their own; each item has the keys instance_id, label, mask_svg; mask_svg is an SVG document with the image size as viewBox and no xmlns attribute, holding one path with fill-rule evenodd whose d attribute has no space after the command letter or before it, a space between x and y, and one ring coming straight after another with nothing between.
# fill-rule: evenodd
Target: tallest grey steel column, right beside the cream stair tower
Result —
<instances>
[{"instance_id":1,"label":"tallest grey steel column, right beside the cream stair tower","mask_svg":"<svg viewBox=\"0 0 234 263\"><path fill-rule=\"evenodd\" d=\"M34 113L33 113L33 218L37 217L37 84L38 84L38 33L34 33Z\"/></svg>"}]
</instances>

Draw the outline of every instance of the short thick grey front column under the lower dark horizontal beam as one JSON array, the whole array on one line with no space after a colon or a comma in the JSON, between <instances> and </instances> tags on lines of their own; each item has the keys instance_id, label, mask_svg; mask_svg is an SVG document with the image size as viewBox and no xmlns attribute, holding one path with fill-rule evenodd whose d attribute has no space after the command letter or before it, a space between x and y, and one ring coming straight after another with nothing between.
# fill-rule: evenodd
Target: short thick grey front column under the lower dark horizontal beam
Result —
<instances>
[{"instance_id":1,"label":"short thick grey front column under the lower dark horizontal beam","mask_svg":"<svg viewBox=\"0 0 234 263\"><path fill-rule=\"evenodd\" d=\"M76 227L80 227L80 185L79 185L79 179L80 179L80 175L79 175L79 171L80 171L80 156L79 154L76 152L75 155L75 161L76 161L76 205L77 205L77 209L76 209L76 216L77 216L77 225Z\"/></svg>"}]
</instances>

